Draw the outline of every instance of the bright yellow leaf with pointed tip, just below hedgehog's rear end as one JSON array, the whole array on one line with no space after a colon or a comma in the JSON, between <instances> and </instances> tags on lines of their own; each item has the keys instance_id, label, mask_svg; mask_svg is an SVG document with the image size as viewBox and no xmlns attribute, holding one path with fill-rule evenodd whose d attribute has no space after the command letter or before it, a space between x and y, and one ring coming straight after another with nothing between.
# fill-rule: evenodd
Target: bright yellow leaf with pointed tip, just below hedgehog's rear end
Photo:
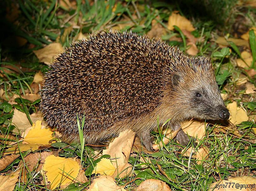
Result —
<instances>
[{"instance_id":1,"label":"bright yellow leaf with pointed tip, just below hedgehog's rear end","mask_svg":"<svg viewBox=\"0 0 256 191\"><path fill-rule=\"evenodd\" d=\"M30 131L24 136L23 141L31 144L48 145L49 141L53 139L52 131L50 129L42 128L42 121L37 120L33 123Z\"/></svg>"}]
</instances>

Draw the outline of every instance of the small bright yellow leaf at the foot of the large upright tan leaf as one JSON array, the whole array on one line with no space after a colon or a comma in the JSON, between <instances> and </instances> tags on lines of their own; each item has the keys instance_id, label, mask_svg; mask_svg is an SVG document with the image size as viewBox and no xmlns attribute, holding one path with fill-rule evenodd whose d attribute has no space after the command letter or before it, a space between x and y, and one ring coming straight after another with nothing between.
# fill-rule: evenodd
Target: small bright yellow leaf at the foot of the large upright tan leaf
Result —
<instances>
[{"instance_id":1,"label":"small bright yellow leaf at the foot of the large upright tan leaf","mask_svg":"<svg viewBox=\"0 0 256 191\"><path fill-rule=\"evenodd\" d=\"M112 174L114 174L115 170L116 168L113 166L109 159L102 158L101 161L97 163L97 166L95 167L95 171L93 173L111 176Z\"/></svg>"}]
</instances>

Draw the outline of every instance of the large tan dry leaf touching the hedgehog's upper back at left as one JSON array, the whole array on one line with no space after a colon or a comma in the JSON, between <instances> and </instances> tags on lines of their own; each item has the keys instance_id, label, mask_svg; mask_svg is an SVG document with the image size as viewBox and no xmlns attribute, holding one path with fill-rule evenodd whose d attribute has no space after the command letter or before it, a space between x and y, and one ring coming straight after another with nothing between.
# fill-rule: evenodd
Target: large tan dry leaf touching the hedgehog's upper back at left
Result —
<instances>
[{"instance_id":1,"label":"large tan dry leaf touching the hedgehog's upper back at left","mask_svg":"<svg viewBox=\"0 0 256 191\"><path fill-rule=\"evenodd\" d=\"M50 65L52 60L61 52L64 52L64 48L60 43L51 43L39 50L33 50L39 62L44 62Z\"/></svg>"}]
</instances>

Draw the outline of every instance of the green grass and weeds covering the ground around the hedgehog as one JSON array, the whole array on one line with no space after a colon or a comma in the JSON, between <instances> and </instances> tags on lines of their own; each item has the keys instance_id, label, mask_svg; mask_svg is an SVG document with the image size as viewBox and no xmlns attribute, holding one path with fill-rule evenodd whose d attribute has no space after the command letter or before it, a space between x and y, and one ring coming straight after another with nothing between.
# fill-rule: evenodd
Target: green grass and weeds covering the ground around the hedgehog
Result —
<instances>
[{"instance_id":1,"label":"green grass and weeds covering the ground around the hedgehog","mask_svg":"<svg viewBox=\"0 0 256 191\"><path fill-rule=\"evenodd\" d=\"M193 10L183 10L178 4L169 4L167 2L152 1L145 5L142 1L89 1L81 3L77 0L76 8L66 9L61 7L56 0L52 1L34 1L34 0L18 0L19 17L11 23L7 20L2 21L3 26L10 30L10 34L23 37L27 43L22 46L12 46L8 44L1 45L1 65L0 65L0 89L7 100L0 99L0 134L8 135L14 129L10 125L14 108L26 113L39 111L39 101L31 102L22 97L16 98L15 103L8 103L14 94L25 95L32 92L29 84L32 83L36 72L45 72L48 66L39 63L35 57L33 50L40 49L45 45L55 42L58 37L64 36L65 29L70 26L76 26L72 29L63 41L63 46L69 46L75 36L82 32L83 34L95 33L98 30L109 30L116 26L122 26L121 31L132 30L138 34L146 34L151 29L151 22L155 19L167 34L162 38L169 45L178 45L180 49L186 49L186 37L182 31L176 27L175 31L167 29L168 17L173 10L180 10L181 14L187 16L196 27L192 34L201 40L196 43L199 50L198 55L206 55L212 58L214 67L216 68L217 83L223 93L228 93L229 98L225 103L236 100L241 104L249 115L255 115L256 103L255 94L245 95L244 90L236 84L236 80L242 74L247 75L247 70L237 68L233 62L234 59L241 57L244 47L237 47L229 42L232 53L229 48L221 48L214 43L213 36L217 33L224 33L226 27L217 27L214 19L201 19L200 17L191 17ZM214 6L216 6L214 4ZM11 7L11 2L5 2L3 7ZM254 10L248 9L248 12L242 13L254 21L250 13ZM2 12L5 18L5 12ZM256 12L254 13L256 14ZM192 19L193 18L193 19ZM227 18L220 18L226 20ZM218 23L219 24L219 23ZM253 23L255 25L255 21ZM221 30L221 31L220 31ZM182 38L182 42L169 41L169 38L177 35ZM232 34L231 34L232 35ZM252 52L253 62L249 67L255 69L256 45L255 35L250 32L250 49ZM6 66L12 66L12 69ZM20 69L22 68L22 69ZM26 68L26 69L25 69ZM14 69L16 69L14 72ZM249 76L250 82L255 84L255 76ZM79 123L79 122L78 122ZM83 124L81 128L83 128ZM126 185L125 189L134 190L143 180L158 179L166 182L172 190L208 190L209 185L220 179L227 179L229 176L254 176L256 175L256 138L252 128L256 125L253 122L243 122L237 125L237 130L242 134L241 138L233 135L232 131L227 133L215 132L214 126L207 128L207 136L201 140L195 150L201 146L209 148L209 159L201 165L196 163L195 158L186 157L182 150L184 147L170 142L163 149L153 154L143 152L134 153L129 158L129 163L134 166L133 176L125 178L116 178L118 185ZM156 138L160 138L158 132L152 132ZM2 140L4 140L2 142ZM5 148L6 139L0 138L0 160L3 157L2 152ZM95 153L93 148L89 146L83 147L84 142L81 138L81 144L70 144L64 142L56 142L50 148L45 150L59 151L60 157L78 157L82 158L81 164L85 168L85 175L89 179L83 185L77 186L72 184L70 190L82 190L88 188L95 175L91 175L93 166L100 161L101 158L109 158L109 155L103 155L101 158L94 159ZM43 150L41 150L43 151ZM18 163L24 161L24 156L31 151L23 153L19 158L15 159L6 169L0 173L9 174L14 171ZM81 157L81 155L83 157ZM140 161L140 157L145 162ZM150 158L150 161L148 161ZM146 165L147 168L142 167ZM26 165L25 165L26 167ZM165 173L163 173L165 172ZM133 181L135 179L135 181ZM46 185L42 184L43 177L35 170L27 175L27 183L21 180L15 186L14 190L49 190ZM55 189L60 190L60 189Z\"/></svg>"}]
</instances>

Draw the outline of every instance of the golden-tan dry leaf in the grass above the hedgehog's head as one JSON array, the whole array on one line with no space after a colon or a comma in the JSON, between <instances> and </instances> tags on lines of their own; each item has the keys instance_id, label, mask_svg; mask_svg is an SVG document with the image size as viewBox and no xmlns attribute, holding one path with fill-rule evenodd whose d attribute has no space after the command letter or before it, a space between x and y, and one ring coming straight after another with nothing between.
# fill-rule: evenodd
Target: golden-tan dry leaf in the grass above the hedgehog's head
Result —
<instances>
[{"instance_id":1,"label":"golden-tan dry leaf in the grass above the hedgehog's head","mask_svg":"<svg viewBox=\"0 0 256 191\"><path fill-rule=\"evenodd\" d=\"M195 30L195 28L187 18L182 17L180 14L172 12L171 16L168 19L167 28L169 30L174 30L174 25L178 26L181 30L186 29L190 32Z\"/></svg>"}]
</instances>

